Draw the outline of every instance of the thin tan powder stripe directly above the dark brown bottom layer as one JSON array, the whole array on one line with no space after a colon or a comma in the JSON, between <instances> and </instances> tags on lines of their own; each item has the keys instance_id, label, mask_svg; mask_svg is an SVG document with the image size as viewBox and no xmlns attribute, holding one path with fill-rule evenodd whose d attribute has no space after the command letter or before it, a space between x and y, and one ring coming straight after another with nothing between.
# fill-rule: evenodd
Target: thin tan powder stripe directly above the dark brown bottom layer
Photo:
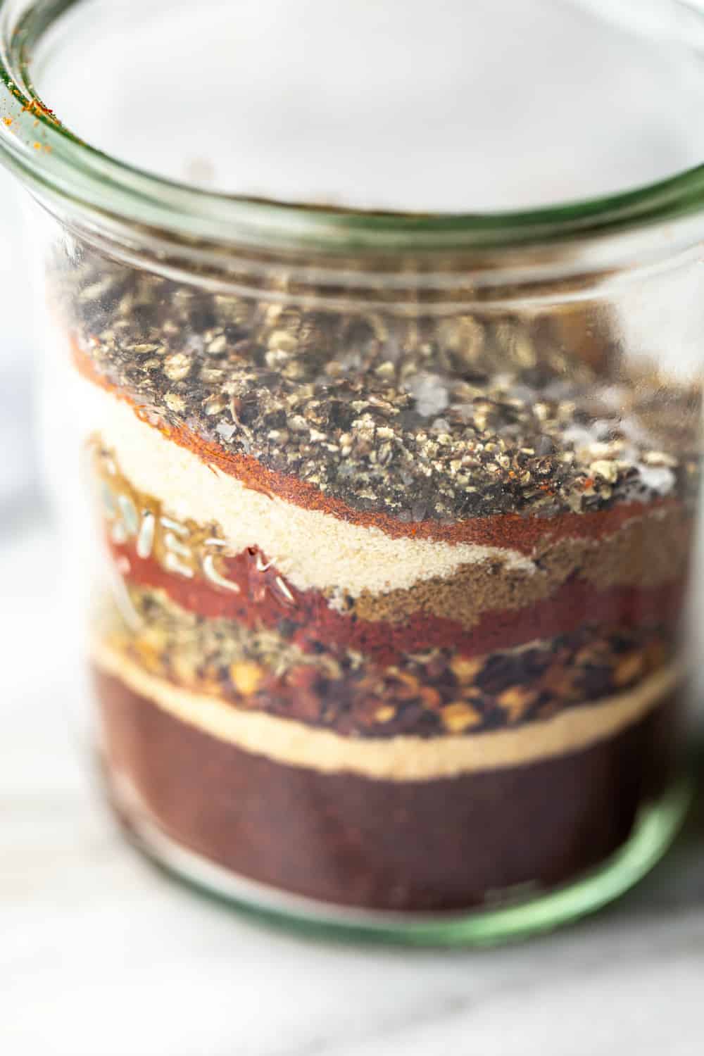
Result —
<instances>
[{"instance_id":1,"label":"thin tan powder stripe directly above the dark brown bottom layer","mask_svg":"<svg viewBox=\"0 0 704 1056\"><path fill-rule=\"evenodd\" d=\"M174 718L254 755L323 773L348 771L404 781L503 769L587 748L636 722L682 678L680 665L670 664L633 690L515 730L474 736L361 739L264 712L240 711L217 697L192 693L149 675L101 643L95 645L93 659L104 674Z\"/></svg>"}]
</instances>

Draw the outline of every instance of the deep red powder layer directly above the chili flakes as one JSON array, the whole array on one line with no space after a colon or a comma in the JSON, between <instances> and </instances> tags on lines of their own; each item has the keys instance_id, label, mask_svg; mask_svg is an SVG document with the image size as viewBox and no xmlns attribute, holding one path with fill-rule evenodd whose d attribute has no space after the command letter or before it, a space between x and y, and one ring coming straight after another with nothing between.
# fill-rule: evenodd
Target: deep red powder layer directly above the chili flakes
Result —
<instances>
[{"instance_id":1,"label":"deep red powder layer directly above the chili flakes","mask_svg":"<svg viewBox=\"0 0 704 1056\"><path fill-rule=\"evenodd\" d=\"M286 580L293 604L275 588L275 567L258 568L258 551L245 550L225 558L228 581L240 592L208 580L187 579L169 572L153 558L141 559L132 544L111 543L127 582L164 590L188 611L206 619L227 619L250 628L279 629L286 621L286 639L304 652L344 653L354 649L381 666L396 663L403 654L441 647L474 657L524 645L530 641L570 634L583 623L633 627L677 620L683 605L686 577L653 587L613 586L598 589L573 577L551 597L500 611L483 612L472 628L423 611L399 622L360 620L329 607L318 590L297 590Z\"/></svg>"}]
</instances>

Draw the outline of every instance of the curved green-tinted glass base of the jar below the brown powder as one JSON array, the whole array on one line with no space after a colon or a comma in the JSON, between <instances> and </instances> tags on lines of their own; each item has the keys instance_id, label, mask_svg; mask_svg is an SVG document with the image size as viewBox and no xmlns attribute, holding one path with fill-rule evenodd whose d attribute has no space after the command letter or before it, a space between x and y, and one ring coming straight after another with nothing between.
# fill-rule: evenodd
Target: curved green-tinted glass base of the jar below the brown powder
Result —
<instances>
[{"instance_id":1,"label":"curved green-tinted glass base of the jar below the brown powder","mask_svg":"<svg viewBox=\"0 0 704 1056\"><path fill-rule=\"evenodd\" d=\"M263 922L331 939L415 946L489 946L550 931L624 894L660 861L692 798L683 778L644 807L628 841L573 883L496 908L408 913L334 906L239 876L179 845L114 786L110 798L132 844L155 865ZM135 809L136 808L136 809Z\"/></svg>"}]
</instances>

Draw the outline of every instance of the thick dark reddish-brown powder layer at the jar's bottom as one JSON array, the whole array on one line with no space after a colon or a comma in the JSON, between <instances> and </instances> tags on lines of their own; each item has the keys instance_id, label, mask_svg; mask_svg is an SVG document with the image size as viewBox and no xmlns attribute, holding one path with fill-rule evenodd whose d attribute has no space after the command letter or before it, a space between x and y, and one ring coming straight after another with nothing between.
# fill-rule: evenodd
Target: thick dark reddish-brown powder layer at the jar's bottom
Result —
<instances>
[{"instance_id":1,"label":"thick dark reddish-brown powder layer at the jar's bottom","mask_svg":"<svg viewBox=\"0 0 704 1056\"><path fill-rule=\"evenodd\" d=\"M679 702L592 747L430 781L289 767L179 722L95 673L109 773L174 841L232 872L341 906L457 910L603 863L670 782ZM117 803L138 827L130 804Z\"/></svg>"}]
</instances>

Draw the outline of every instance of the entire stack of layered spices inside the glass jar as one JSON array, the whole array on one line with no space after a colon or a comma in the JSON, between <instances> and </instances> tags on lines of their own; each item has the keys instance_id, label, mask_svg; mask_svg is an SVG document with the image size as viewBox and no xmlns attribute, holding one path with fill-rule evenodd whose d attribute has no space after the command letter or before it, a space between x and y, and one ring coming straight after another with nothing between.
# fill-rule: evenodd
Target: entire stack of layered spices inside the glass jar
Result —
<instances>
[{"instance_id":1,"label":"entire stack of layered spices inside the glass jar","mask_svg":"<svg viewBox=\"0 0 704 1056\"><path fill-rule=\"evenodd\" d=\"M128 825L403 910L549 889L628 838L673 766L696 386L626 371L589 305L324 310L85 247L52 281L118 583L94 667Z\"/></svg>"}]
</instances>

